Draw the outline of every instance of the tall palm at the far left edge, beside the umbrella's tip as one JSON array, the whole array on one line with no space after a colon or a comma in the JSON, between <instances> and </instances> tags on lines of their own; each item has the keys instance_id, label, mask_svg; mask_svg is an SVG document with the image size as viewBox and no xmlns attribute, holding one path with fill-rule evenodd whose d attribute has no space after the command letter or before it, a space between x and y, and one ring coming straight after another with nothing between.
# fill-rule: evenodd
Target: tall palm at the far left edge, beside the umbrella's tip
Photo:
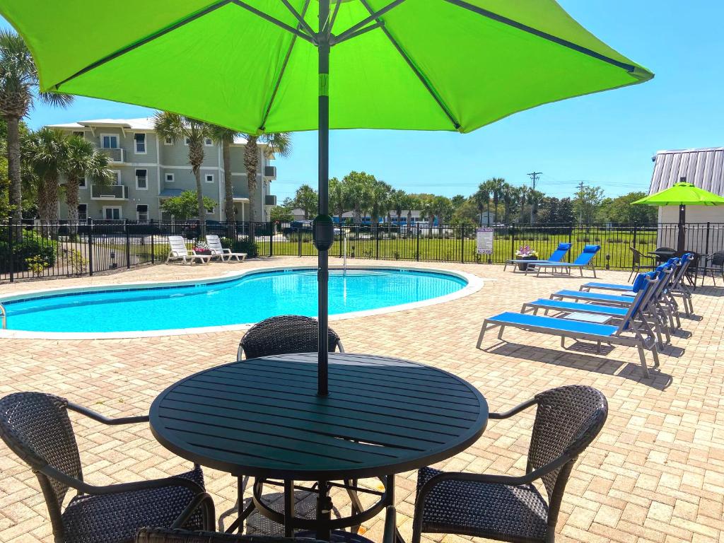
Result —
<instances>
[{"instance_id":1,"label":"tall palm at the far left edge, beside the umbrella's tip","mask_svg":"<svg viewBox=\"0 0 724 543\"><path fill-rule=\"evenodd\" d=\"M68 94L41 92L38 70L25 41L13 30L0 30L0 115L7 122L7 169L15 221L22 219L20 119L28 114L35 98L56 107L67 107L73 101Z\"/></svg>"}]
</instances>

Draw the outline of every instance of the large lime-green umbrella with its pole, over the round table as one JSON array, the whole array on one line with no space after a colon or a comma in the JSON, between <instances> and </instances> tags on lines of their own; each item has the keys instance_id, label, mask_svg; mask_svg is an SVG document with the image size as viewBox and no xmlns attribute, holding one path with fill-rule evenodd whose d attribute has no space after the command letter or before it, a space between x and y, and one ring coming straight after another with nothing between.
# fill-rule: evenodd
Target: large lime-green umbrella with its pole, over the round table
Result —
<instances>
[{"instance_id":1,"label":"large lime-green umbrella with its pole, over the round table","mask_svg":"<svg viewBox=\"0 0 724 543\"><path fill-rule=\"evenodd\" d=\"M0 13L33 51L43 90L243 132L319 130L320 394L330 128L470 132L653 77L554 0L3 0Z\"/></svg>"}]
</instances>

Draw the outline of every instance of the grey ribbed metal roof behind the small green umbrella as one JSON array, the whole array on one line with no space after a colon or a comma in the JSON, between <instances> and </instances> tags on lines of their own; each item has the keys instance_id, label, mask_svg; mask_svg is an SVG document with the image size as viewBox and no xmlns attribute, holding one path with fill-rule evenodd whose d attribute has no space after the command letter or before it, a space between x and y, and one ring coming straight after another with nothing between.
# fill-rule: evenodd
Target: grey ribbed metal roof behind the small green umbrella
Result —
<instances>
[{"instance_id":1,"label":"grey ribbed metal roof behind the small green umbrella","mask_svg":"<svg viewBox=\"0 0 724 543\"><path fill-rule=\"evenodd\" d=\"M673 186L681 177L711 193L724 196L724 147L659 151L653 157L649 194Z\"/></svg>"}]
</instances>

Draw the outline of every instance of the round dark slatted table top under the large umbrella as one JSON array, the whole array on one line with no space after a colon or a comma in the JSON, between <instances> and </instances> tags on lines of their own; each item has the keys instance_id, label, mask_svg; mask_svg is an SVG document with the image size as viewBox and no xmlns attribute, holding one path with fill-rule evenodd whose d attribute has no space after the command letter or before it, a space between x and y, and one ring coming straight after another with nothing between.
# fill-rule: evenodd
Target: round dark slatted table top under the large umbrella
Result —
<instances>
[{"instance_id":1,"label":"round dark slatted table top under the large umbrella","mask_svg":"<svg viewBox=\"0 0 724 543\"><path fill-rule=\"evenodd\" d=\"M471 384L398 358L329 353L329 391L316 395L316 353L237 361L161 392L151 432L182 458L234 475L332 481L450 458L488 420Z\"/></svg>"}]
</instances>

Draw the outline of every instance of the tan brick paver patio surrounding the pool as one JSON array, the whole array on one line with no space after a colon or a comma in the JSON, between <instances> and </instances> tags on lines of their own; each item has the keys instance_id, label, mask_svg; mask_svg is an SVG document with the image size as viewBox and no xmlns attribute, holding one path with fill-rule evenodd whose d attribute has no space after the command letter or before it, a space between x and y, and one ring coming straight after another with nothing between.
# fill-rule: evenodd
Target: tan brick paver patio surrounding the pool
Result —
<instances>
[{"instance_id":1,"label":"tan brick paver patio surrounding the pool","mask_svg":"<svg viewBox=\"0 0 724 543\"><path fill-rule=\"evenodd\" d=\"M315 261L274 258L245 264L155 266L90 279L5 283L0 293L206 277L270 263L314 265ZM475 348L485 316L519 311L524 301L547 297L562 287L577 289L579 278L504 274L502 266L410 265L462 269L483 277L485 286L466 298L437 306L335 321L332 326L345 350L409 358L452 371L478 387L492 411L505 411L536 391L563 384L589 384L607 396L610 415L605 429L581 456L568 483L558 541L724 542L723 289L696 291L694 309L702 319L683 319L687 333L673 337L673 345L662 353L660 371L653 372L654 379L644 380L636 350L629 348L618 347L607 355L580 345L563 350L556 337L513 329L505 335L513 342L497 342L491 333L484 341L485 350ZM622 282L628 274L607 271L599 277ZM239 338L239 332L224 332L130 340L0 340L0 395L40 390L107 416L147 413L153 398L169 384L233 361ZM106 427L72 418L84 476L92 484L151 479L188 469L188 462L156 443L145 424ZM439 467L521 473L532 421L531 412L492 422L476 445ZM0 447L0 542L51 542L51 526L35 476L4 444ZM206 470L206 479L217 513L230 510L235 479L212 470ZM409 540L415 473L403 473L397 479L397 523ZM340 507L343 504L340 500ZM380 541L382 518L363 529ZM433 536L427 541L441 539L452 543L462 538Z\"/></svg>"}]
</instances>

